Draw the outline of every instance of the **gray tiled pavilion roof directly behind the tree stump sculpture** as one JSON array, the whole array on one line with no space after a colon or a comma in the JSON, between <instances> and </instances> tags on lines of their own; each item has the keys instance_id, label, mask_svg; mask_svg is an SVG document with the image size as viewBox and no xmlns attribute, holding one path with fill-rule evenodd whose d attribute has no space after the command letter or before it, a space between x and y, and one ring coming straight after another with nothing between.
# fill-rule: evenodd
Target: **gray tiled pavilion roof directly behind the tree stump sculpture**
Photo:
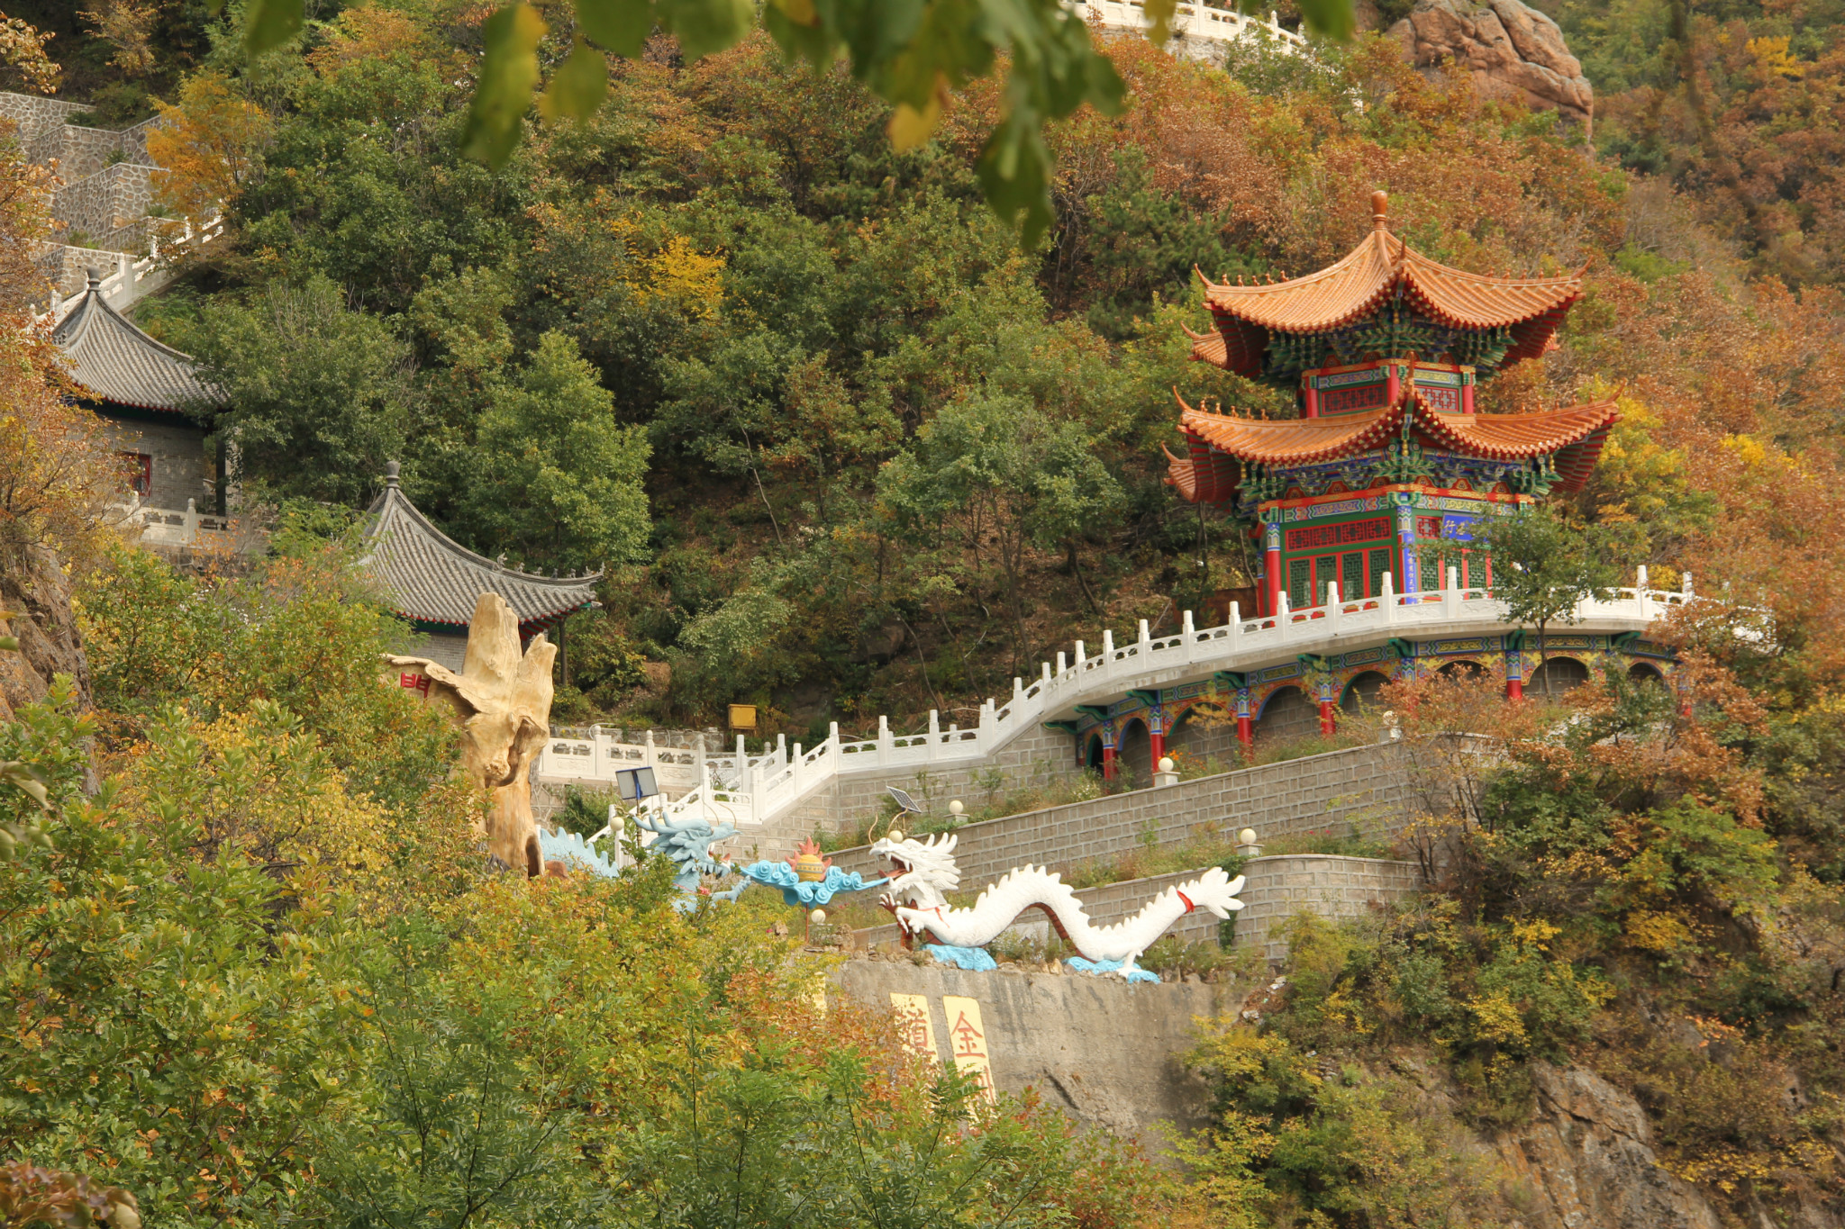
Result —
<instances>
[{"instance_id":1,"label":"gray tiled pavilion roof directly behind the tree stump sculpture","mask_svg":"<svg viewBox=\"0 0 1845 1229\"><path fill-rule=\"evenodd\" d=\"M493 562L432 525L386 470L384 494L371 505L367 553L360 566L387 593L397 614L419 623L467 626L482 593L498 593L520 625L583 610L596 601L600 571L585 577L535 577Z\"/></svg>"}]
</instances>

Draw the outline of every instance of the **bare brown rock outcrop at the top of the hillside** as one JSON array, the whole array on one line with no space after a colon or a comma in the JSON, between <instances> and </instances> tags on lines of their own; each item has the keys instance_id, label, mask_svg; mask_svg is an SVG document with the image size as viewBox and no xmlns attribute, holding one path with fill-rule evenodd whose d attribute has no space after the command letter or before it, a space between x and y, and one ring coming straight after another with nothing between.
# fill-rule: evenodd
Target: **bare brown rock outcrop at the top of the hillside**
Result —
<instances>
[{"instance_id":1,"label":"bare brown rock outcrop at the top of the hillside","mask_svg":"<svg viewBox=\"0 0 1845 1229\"><path fill-rule=\"evenodd\" d=\"M1583 127L1594 120L1594 90L1557 22L1518 0L1417 0L1387 33L1430 74L1454 59L1480 98L1555 111Z\"/></svg>"}]
</instances>

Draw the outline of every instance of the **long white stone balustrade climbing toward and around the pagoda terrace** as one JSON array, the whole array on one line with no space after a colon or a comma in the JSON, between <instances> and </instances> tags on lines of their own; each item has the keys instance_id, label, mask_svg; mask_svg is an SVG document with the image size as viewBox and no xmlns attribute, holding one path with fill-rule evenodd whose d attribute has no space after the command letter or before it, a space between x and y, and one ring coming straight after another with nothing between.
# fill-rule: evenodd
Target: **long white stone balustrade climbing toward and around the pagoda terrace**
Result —
<instances>
[{"instance_id":1,"label":"long white stone balustrade climbing toward and around the pagoda terrace","mask_svg":"<svg viewBox=\"0 0 1845 1229\"><path fill-rule=\"evenodd\" d=\"M928 730L919 733L893 733L889 719L878 717L878 733L873 739L845 741L839 737L838 722L814 748L803 748L801 743L790 748L786 739L777 739L766 754L745 755L744 741L738 739L732 755L701 754L703 767L686 772L690 779L683 785L679 776L666 776L675 772L675 767L659 759L661 752L679 748L655 748L653 767L662 792L672 794L672 785L684 789L664 805L664 811L681 818L697 814L738 825L760 825L786 814L803 796L836 776L980 763L1042 720L1072 715L1077 704L1118 698L1129 689L1173 685L1216 671L1277 665L1301 652L1347 652L1399 632L1489 636L1518 626L1506 617L1504 603L1489 590L1461 588L1458 569L1450 568L1446 580L1446 588L1441 590L1393 593L1391 577L1386 573L1384 591L1378 597L1339 601L1338 586L1332 586L1330 601L1321 606L1290 610L1282 595L1279 615L1256 619L1244 619L1236 603L1231 603L1231 621L1212 628L1194 626L1192 612L1186 610L1179 632L1155 638L1142 619L1137 638L1120 645L1114 643L1114 632L1105 630L1101 652L1087 654L1085 643L1077 641L1074 658L1066 660L1059 652L1055 665L1044 661L1031 682L1015 678L1013 693L1004 704L985 700L980 706L978 724L969 730L956 724L943 728L932 709ZM1614 590L1609 601L1579 603L1572 623L1603 632L1644 630L1673 606L1690 601L1690 579L1677 591L1651 590L1646 588L1642 568L1638 584ZM587 752L572 750L566 765L555 748L570 743L585 746L589 741L552 739L539 759L537 776L613 779L616 767L637 767L644 761L651 739L649 744L611 741ZM611 765L607 776L598 770L601 765Z\"/></svg>"}]
</instances>

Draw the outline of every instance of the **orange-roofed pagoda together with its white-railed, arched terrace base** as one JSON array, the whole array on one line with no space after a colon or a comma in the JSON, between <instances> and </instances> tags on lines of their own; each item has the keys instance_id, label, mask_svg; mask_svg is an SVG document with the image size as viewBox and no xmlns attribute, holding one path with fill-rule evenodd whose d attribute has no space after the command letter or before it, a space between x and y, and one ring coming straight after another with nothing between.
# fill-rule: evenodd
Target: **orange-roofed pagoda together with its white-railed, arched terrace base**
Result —
<instances>
[{"instance_id":1,"label":"orange-roofed pagoda together with its white-railed, arched terrace base","mask_svg":"<svg viewBox=\"0 0 1845 1229\"><path fill-rule=\"evenodd\" d=\"M1186 667L1118 695L1100 687L1044 722L1105 776L1124 763L1151 772L1168 748L1231 752L1227 722L1196 711L1232 715L1247 752L1330 733L1341 708L1404 673L1504 671L1517 696L1594 667L1672 669L1670 650L1644 639L1649 615L1614 606L1548 634L1539 663L1491 601L1493 560L1472 549L1482 518L1579 488L1616 420L1613 402L1476 413L1482 380L1552 348L1581 275L1452 269L1391 234L1382 192L1371 203L1371 234L1328 269L1205 284L1216 328L1192 334L1192 357L1292 391L1297 416L1179 404L1184 444L1166 450L1166 481L1249 527L1258 586L1221 628L1194 636L1186 621ZM1151 660L1161 643L1146 630L1131 649L1105 639L1103 660Z\"/></svg>"}]
</instances>

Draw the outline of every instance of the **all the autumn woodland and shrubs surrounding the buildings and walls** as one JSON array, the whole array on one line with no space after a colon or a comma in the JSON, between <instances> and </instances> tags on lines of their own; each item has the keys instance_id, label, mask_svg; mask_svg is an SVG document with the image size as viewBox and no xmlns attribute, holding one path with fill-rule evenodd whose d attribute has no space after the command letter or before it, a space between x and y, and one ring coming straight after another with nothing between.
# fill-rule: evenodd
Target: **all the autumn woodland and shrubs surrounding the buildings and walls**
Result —
<instances>
[{"instance_id":1,"label":"all the autumn woodland and shrubs surrounding the buildings and walls","mask_svg":"<svg viewBox=\"0 0 1845 1229\"><path fill-rule=\"evenodd\" d=\"M26 317L42 182L0 158L0 1220L1476 1229L1563 1223L1600 1174L1625 1225L1845 1223L1845 26L1546 4L1592 133L1378 37L1111 41L1129 105L1052 129L1026 251L976 182L991 83L895 153L843 72L657 37L489 171L458 153L482 6L319 0L255 63L238 4L7 9L90 122L168 118L164 210L225 206L137 319L231 392L210 427L275 534L245 573L101 533L109 444ZM48 88L0 35L9 88ZM1247 580L1161 481L1172 391L1292 407L1188 361L1192 269L1315 269L1375 188L1439 260L1587 267L1561 348L1482 409L1616 396L1561 512L1708 601L1659 626L1675 693L1389 684L1428 890L1238 971L1183 1170L821 1015L773 894L487 864L456 735L376 685L402 625L330 540L387 461L487 555L607 568L559 720L954 720Z\"/></svg>"}]
</instances>

